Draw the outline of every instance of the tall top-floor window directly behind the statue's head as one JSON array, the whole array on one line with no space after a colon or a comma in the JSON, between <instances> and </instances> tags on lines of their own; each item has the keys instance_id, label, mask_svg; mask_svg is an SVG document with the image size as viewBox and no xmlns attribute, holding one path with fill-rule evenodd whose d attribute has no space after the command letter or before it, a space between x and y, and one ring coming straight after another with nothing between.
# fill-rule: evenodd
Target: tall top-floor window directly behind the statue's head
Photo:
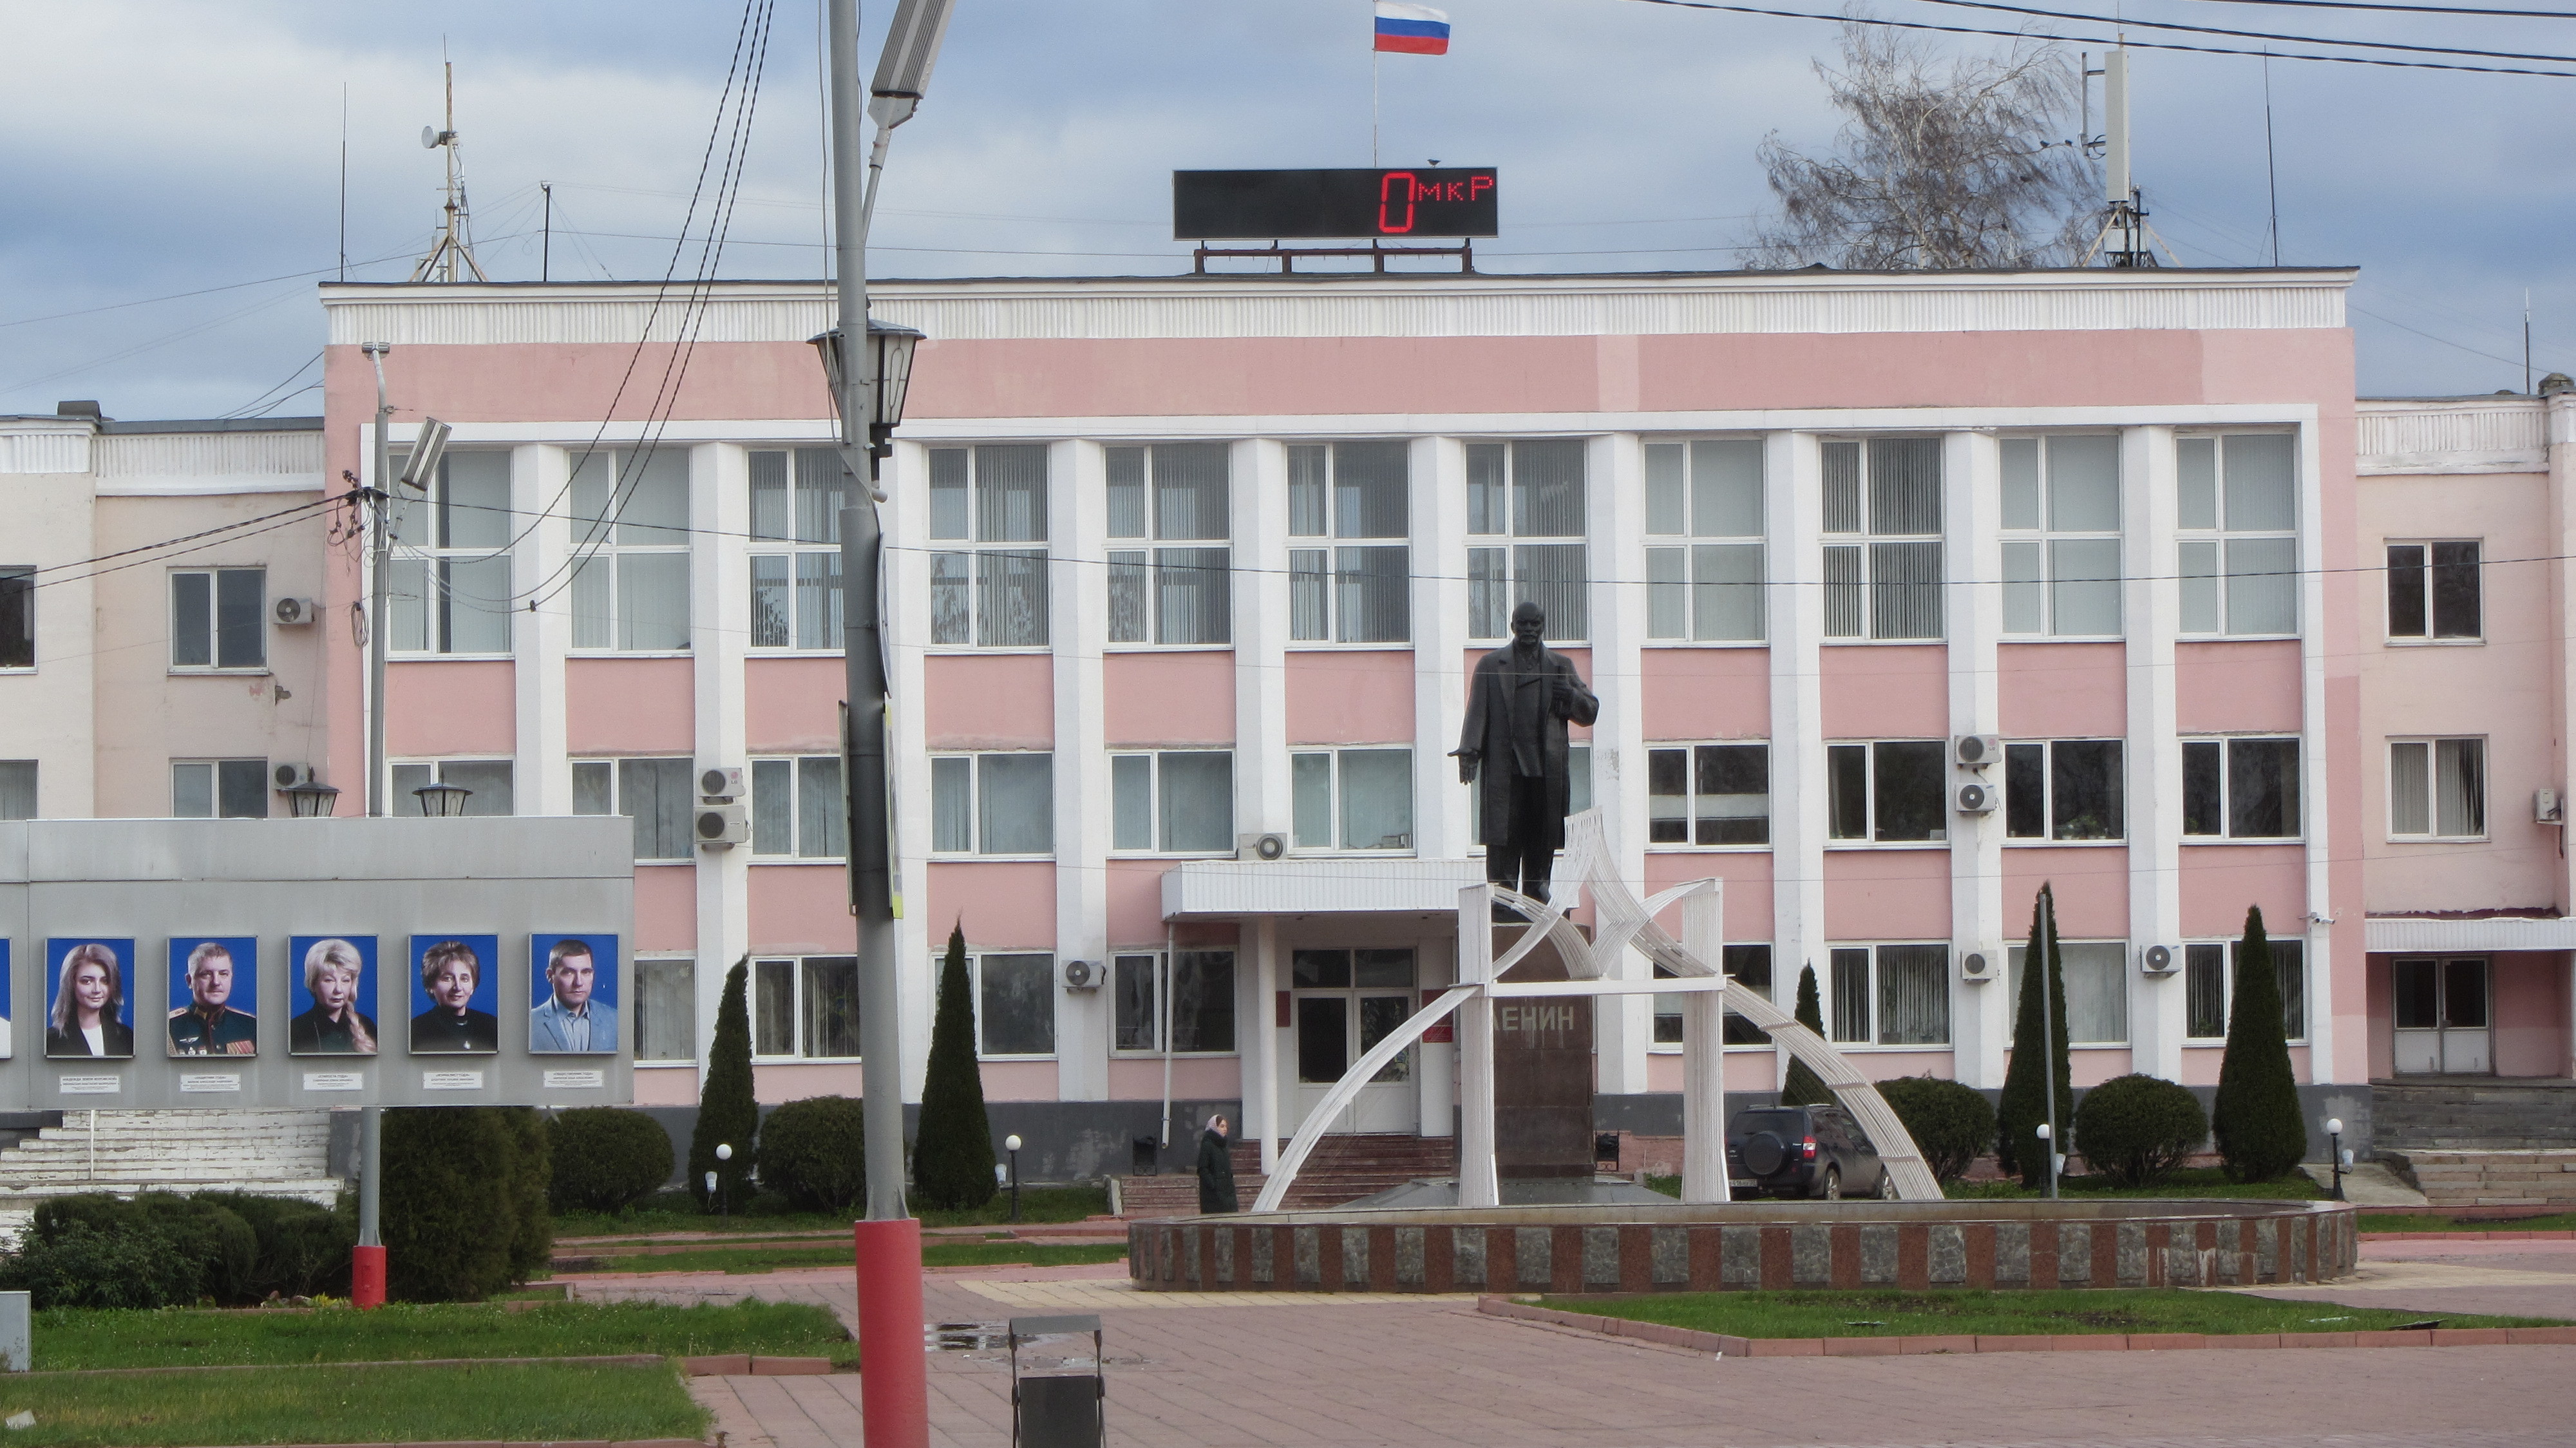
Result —
<instances>
[{"instance_id":1,"label":"tall top-floor window directly behind the statue's head","mask_svg":"<svg viewBox=\"0 0 2576 1448\"><path fill-rule=\"evenodd\" d=\"M1587 487L1582 438L1468 443L1466 531L1510 544L1466 549L1466 634L1502 639L1512 608L1548 613L1548 642L1592 636L1592 554L1584 544Z\"/></svg>"}]
</instances>

